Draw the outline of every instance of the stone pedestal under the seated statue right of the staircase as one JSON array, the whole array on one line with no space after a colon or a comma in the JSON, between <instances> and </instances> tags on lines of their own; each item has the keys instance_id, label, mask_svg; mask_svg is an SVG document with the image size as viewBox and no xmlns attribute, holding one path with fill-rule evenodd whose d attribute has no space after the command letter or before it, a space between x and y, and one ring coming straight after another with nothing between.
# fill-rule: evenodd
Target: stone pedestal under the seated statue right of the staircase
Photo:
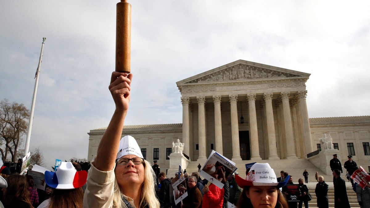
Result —
<instances>
[{"instance_id":1,"label":"stone pedestal under the seated statue right of the staircase","mask_svg":"<svg viewBox=\"0 0 370 208\"><path fill-rule=\"evenodd\" d=\"M340 160L340 155L342 152L340 152L337 149L324 149L319 152L319 154L314 155L312 157L307 158L312 164L314 164L316 167L320 168L326 175L332 175L332 169L330 168L330 160L333 159L333 154L338 155L338 160Z\"/></svg>"}]
</instances>

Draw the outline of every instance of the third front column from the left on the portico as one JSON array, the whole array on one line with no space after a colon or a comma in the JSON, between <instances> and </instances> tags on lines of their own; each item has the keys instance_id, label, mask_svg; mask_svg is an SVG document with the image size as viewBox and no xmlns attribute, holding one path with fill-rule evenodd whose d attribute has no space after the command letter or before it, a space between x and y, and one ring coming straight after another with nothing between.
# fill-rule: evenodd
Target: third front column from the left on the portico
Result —
<instances>
[{"instance_id":1,"label":"third front column from the left on the portico","mask_svg":"<svg viewBox=\"0 0 370 208\"><path fill-rule=\"evenodd\" d=\"M212 98L215 105L215 150L222 154L221 95L213 95Z\"/></svg>"}]
</instances>

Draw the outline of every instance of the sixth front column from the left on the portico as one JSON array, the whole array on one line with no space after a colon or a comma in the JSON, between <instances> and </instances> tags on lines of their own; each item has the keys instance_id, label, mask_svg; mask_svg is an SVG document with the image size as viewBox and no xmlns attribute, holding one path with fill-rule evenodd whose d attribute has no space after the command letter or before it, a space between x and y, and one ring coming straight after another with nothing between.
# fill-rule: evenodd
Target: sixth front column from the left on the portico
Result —
<instances>
[{"instance_id":1,"label":"sixth front column from the left on the portico","mask_svg":"<svg viewBox=\"0 0 370 208\"><path fill-rule=\"evenodd\" d=\"M272 93L263 93L266 105L267 135L269 140L269 159L279 159L276 150L274 113L272 111Z\"/></svg>"}]
</instances>

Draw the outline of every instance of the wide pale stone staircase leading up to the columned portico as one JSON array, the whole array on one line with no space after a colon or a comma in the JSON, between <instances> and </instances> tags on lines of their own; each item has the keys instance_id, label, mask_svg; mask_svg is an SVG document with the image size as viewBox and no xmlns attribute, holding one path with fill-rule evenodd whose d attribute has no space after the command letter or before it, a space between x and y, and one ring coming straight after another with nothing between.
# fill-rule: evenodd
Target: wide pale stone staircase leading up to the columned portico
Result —
<instances>
[{"instance_id":1,"label":"wide pale stone staircase leading up to the columned portico","mask_svg":"<svg viewBox=\"0 0 370 208\"><path fill-rule=\"evenodd\" d=\"M242 160L242 161L234 161L236 163L236 167L238 168L236 172L239 173L239 176L242 178L246 177L246 169L245 164L252 163L252 162L259 162L259 163L269 163L271 168L275 171L276 177L280 177L280 171L286 171L289 173L289 175L292 175L293 182L295 184L298 184L298 179L303 177L303 171L307 169L307 172L309 173L308 176L308 183L306 184L309 188L309 193L312 195L312 200L309 201L309 207L317 207L316 205L316 195L315 195L315 188L317 181L315 179L315 172L317 171L319 175L322 175L324 177L325 182L329 185L329 207L334 207L334 187L333 187L333 176L332 175L326 175L323 171L321 171L319 168L317 168L314 164L312 164L310 161L306 159L283 159L283 160ZM191 174L191 172L197 172L198 171L198 163L200 163L203 167L205 161L191 161L186 167L186 172ZM345 178L345 174L342 174L342 178L344 181L346 181L346 187L347 187L347 195L349 198L349 202L351 207L360 207L357 202L356 192L353 191L351 187L351 183L347 181L347 178ZM304 207L304 205L303 205Z\"/></svg>"}]
</instances>

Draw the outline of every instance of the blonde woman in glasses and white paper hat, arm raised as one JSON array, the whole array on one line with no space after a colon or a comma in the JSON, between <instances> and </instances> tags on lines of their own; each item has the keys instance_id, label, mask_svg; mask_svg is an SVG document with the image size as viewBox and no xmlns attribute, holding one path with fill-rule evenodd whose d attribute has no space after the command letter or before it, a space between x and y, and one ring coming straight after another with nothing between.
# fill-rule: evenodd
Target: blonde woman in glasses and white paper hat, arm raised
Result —
<instances>
[{"instance_id":1,"label":"blonde woman in glasses and white paper hat, arm raised","mask_svg":"<svg viewBox=\"0 0 370 208\"><path fill-rule=\"evenodd\" d=\"M132 74L112 73L109 89L116 107L88 171L85 208L159 208L150 163L143 159L133 137L121 139L131 79Z\"/></svg>"}]
</instances>

